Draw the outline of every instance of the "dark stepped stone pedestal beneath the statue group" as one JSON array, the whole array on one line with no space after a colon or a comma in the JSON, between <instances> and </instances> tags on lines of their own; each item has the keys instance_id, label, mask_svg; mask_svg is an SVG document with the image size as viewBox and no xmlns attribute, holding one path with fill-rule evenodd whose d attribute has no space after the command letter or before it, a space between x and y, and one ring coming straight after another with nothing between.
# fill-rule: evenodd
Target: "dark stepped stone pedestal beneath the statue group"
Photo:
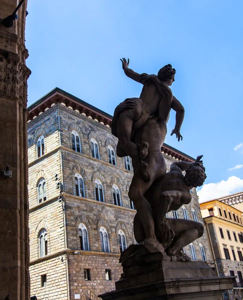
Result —
<instances>
[{"instance_id":1,"label":"dark stepped stone pedestal beneath the statue group","mask_svg":"<svg viewBox=\"0 0 243 300\"><path fill-rule=\"evenodd\" d=\"M233 288L233 277L219 277L204 261L163 261L156 270L116 282L116 290L99 295L103 300L222 300Z\"/></svg>"}]
</instances>

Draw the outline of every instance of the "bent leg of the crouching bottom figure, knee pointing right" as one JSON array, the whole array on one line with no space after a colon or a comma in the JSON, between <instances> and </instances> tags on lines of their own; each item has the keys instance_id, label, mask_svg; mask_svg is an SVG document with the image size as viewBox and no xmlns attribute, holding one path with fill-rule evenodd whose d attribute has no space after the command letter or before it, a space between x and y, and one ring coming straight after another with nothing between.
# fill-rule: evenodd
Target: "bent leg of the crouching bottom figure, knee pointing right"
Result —
<instances>
[{"instance_id":1,"label":"bent leg of the crouching bottom figure, knee pointing right","mask_svg":"<svg viewBox=\"0 0 243 300\"><path fill-rule=\"evenodd\" d=\"M166 248L168 254L175 254L204 233L203 224L192 220L168 218L166 223L175 232L172 243Z\"/></svg>"}]
</instances>

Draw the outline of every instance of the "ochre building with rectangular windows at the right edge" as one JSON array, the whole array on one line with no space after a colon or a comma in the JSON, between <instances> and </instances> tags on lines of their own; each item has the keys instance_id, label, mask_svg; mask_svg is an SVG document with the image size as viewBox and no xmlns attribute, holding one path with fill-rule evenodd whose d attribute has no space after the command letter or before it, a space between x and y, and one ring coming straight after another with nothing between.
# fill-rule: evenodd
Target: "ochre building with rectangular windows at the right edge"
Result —
<instances>
[{"instance_id":1,"label":"ochre building with rectangular windows at the right edge","mask_svg":"<svg viewBox=\"0 0 243 300\"><path fill-rule=\"evenodd\" d=\"M236 276L234 289L225 294L226 299L235 300L242 299L240 289L243 288L243 218L241 210L227 204L233 202L233 197L234 195L230 195L209 200L200 203L200 208L210 235L218 274ZM233 204L236 204L235 202Z\"/></svg>"}]
</instances>

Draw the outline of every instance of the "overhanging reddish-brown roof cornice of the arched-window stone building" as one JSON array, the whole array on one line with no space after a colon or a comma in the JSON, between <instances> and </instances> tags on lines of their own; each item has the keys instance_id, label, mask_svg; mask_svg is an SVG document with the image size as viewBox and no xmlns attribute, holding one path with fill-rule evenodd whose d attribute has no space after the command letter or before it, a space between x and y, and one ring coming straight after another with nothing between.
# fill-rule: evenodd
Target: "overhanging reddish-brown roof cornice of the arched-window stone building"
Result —
<instances>
[{"instance_id":1,"label":"overhanging reddish-brown roof cornice of the arched-window stone building","mask_svg":"<svg viewBox=\"0 0 243 300\"><path fill-rule=\"evenodd\" d=\"M74 95L55 87L39 100L27 107L28 110L28 127L32 126L40 119L46 116L44 113L48 111L53 104L59 103L58 108L65 110L77 117L83 118L96 126L101 126L103 129L111 132L112 115L104 112L103 110L75 97ZM62 103L62 105L60 105ZM49 109L48 109L49 108ZM53 108L50 112L52 112ZM49 113L50 113L49 112ZM178 160L195 161L196 159L183 153L182 151L164 143L162 152L174 157Z\"/></svg>"}]
</instances>

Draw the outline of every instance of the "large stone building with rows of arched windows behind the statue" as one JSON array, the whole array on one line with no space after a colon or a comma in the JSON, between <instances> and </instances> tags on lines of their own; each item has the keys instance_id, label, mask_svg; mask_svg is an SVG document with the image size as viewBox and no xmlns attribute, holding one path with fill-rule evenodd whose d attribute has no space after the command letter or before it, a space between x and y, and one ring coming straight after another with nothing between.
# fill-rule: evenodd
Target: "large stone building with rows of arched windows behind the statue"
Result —
<instances>
[{"instance_id":1,"label":"large stone building with rows of arched windows behind the statue","mask_svg":"<svg viewBox=\"0 0 243 300\"><path fill-rule=\"evenodd\" d=\"M95 300L115 288L120 251L135 243L131 161L115 154L112 116L59 88L28 111L31 295ZM162 151L168 170L194 160L166 144ZM192 196L174 216L203 223L195 189ZM184 250L213 260L206 231Z\"/></svg>"}]
</instances>

